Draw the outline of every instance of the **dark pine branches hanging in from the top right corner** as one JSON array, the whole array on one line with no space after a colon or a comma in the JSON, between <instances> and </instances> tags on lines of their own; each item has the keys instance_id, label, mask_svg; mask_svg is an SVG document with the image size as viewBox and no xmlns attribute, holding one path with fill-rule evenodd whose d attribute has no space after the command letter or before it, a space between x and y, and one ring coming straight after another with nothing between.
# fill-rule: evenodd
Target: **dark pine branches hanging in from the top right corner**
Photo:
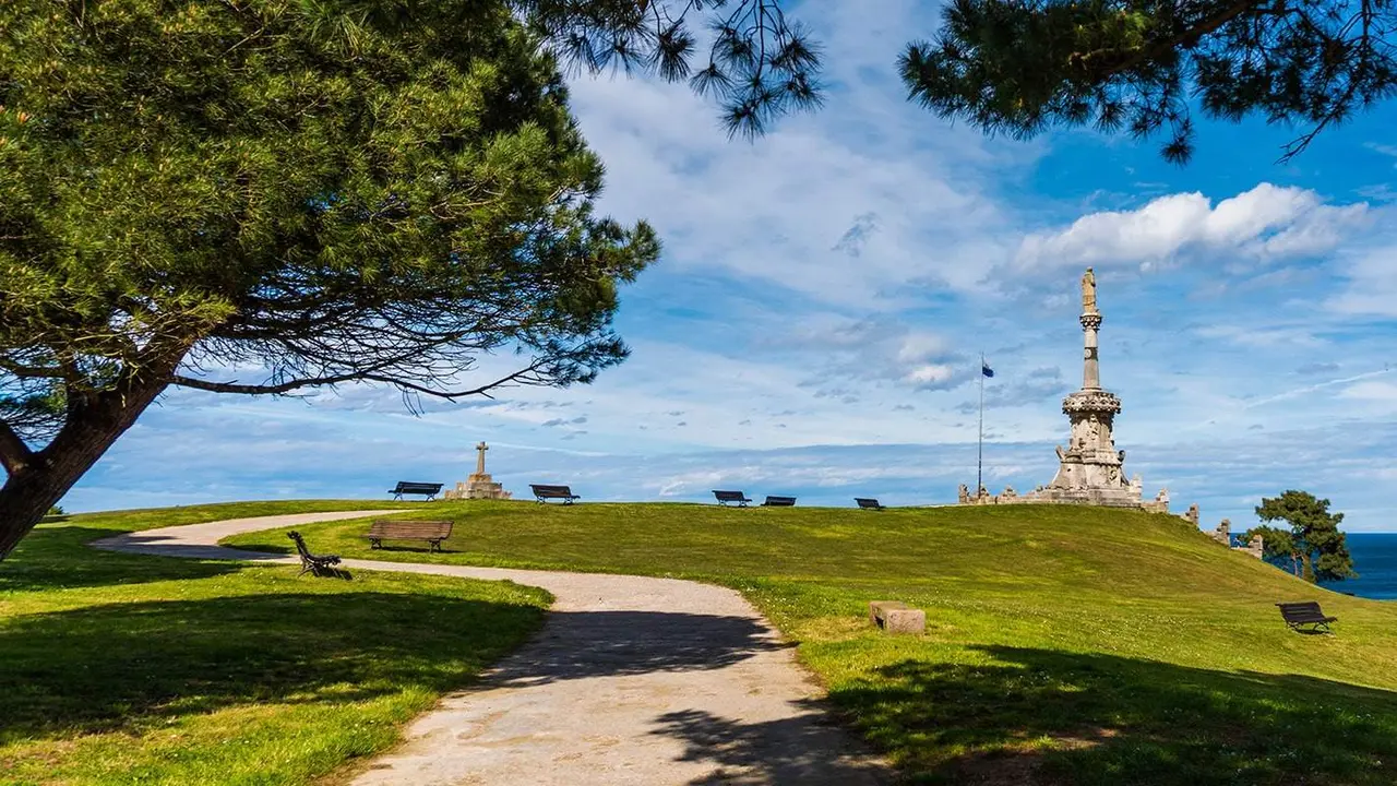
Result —
<instances>
[{"instance_id":1,"label":"dark pine branches hanging in from the top right corner","mask_svg":"<svg viewBox=\"0 0 1397 786\"><path fill-rule=\"evenodd\" d=\"M1162 154L1193 150L1193 97L1211 117L1257 113L1310 130L1397 91L1390 0L954 0L933 42L900 60L912 98L988 133L1094 126Z\"/></svg>"}]
</instances>

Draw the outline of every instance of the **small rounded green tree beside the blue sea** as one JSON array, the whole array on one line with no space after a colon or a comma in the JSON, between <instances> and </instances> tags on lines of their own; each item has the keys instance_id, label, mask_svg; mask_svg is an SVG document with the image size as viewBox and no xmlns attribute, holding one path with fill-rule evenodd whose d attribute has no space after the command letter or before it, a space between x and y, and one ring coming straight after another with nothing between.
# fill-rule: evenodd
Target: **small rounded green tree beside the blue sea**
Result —
<instances>
[{"instance_id":1,"label":"small rounded green tree beside the blue sea","mask_svg":"<svg viewBox=\"0 0 1397 786\"><path fill-rule=\"evenodd\" d=\"M1337 582L1356 578L1354 558L1338 524L1343 513L1329 512L1329 499L1308 491L1285 491L1261 498L1256 515L1263 522L1285 522L1287 527L1263 524L1248 530L1246 540L1261 536L1266 557L1289 561L1291 571L1306 582Z\"/></svg>"}]
</instances>

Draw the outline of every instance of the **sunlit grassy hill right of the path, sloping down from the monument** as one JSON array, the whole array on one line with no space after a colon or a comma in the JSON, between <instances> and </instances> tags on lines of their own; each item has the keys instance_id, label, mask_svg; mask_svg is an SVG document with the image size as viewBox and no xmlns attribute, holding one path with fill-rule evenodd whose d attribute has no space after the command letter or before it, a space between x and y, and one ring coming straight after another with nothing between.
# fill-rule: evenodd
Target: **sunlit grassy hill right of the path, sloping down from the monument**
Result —
<instances>
[{"instance_id":1,"label":"sunlit grassy hill right of the path, sloping down from the monument","mask_svg":"<svg viewBox=\"0 0 1397 786\"><path fill-rule=\"evenodd\" d=\"M1397 604L1310 587L1176 517L1073 506L721 509L434 502L447 554L377 559L669 575L742 590L834 705L926 783L1397 782ZM232 538L284 551L278 531ZM1358 566L1362 571L1362 565ZM883 638L869 600L928 611ZM1319 599L1334 636L1289 632Z\"/></svg>"}]
</instances>

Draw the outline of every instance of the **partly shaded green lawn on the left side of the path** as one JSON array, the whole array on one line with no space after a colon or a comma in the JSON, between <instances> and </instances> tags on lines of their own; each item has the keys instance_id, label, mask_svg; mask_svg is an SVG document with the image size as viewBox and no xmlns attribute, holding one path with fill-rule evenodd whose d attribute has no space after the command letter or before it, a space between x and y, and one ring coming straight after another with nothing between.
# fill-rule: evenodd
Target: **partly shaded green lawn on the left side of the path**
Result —
<instances>
[{"instance_id":1,"label":"partly shaded green lawn on the left side of the path","mask_svg":"<svg viewBox=\"0 0 1397 786\"><path fill-rule=\"evenodd\" d=\"M35 530L0 562L0 783L342 775L542 622L548 594L511 583L312 579L82 545L152 526L363 506L210 505Z\"/></svg>"}]
</instances>

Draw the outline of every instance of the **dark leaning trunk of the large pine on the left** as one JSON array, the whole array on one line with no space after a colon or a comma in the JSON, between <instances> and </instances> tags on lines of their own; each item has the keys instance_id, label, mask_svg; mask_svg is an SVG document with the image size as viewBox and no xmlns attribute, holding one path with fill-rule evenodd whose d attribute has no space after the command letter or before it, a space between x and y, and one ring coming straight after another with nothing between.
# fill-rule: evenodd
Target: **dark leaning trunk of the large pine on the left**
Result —
<instances>
[{"instance_id":1,"label":"dark leaning trunk of the large pine on the left","mask_svg":"<svg viewBox=\"0 0 1397 786\"><path fill-rule=\"evenodd\" d=\"M0 561L43 519L73 484L166 387L161 379L129 379L92 396L70 413L47 448L20 467L0 487Z\"/></svg>"}]
</instances>

